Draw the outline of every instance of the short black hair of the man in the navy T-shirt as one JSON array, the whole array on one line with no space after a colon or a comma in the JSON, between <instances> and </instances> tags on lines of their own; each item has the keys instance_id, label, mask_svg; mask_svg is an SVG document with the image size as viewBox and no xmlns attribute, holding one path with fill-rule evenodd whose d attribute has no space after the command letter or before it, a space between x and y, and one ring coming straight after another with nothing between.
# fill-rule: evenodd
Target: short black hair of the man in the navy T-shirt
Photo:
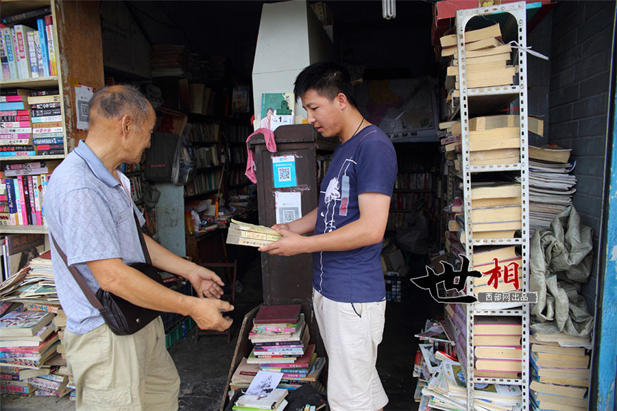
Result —
<instances>
[{"instance_id":1,"label":"short black hair of the man in the navy T-shirt","mask_svg":"<svg viewBox=\"0 0 617 411\"><path fill-rule=\"evenodd\" d=\"M339 92L342 92L351 105L357 107L351 76L342 64L317 62L302 70L295 78L293 94L299 99L309 90L315 90L318 95L330 100L334 100Z\"/></svg>"}]
</instances>

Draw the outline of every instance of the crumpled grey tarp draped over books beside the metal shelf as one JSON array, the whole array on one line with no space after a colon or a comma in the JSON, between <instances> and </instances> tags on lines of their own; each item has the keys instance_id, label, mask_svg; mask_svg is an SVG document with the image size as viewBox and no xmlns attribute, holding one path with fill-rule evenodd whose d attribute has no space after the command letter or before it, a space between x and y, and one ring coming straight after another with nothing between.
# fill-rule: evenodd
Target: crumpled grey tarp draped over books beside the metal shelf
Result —
<instances>
[{"instance_id":1,"label":"crumpled grey tarp draped over books beside the metal shelf","mask_svg":"<svg viewBox=\"0 0 617 411\"><path fill-rule=\"evenodd\" d=\"M535 332L591 336L594 317L579 292L592 268L592 229L580 220L568 206L549 229L539 229L531 238L529 290L537 292L537 303L531 305Z\"/></svg>"}]
</instances>

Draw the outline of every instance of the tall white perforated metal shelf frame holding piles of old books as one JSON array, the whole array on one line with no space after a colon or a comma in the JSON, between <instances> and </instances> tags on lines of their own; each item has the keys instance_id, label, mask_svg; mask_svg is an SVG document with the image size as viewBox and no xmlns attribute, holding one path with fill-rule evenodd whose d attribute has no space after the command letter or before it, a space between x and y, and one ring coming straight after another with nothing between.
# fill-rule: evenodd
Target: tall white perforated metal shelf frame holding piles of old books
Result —
<instances>
[{"instance_id":1,"label":"tall white perforated metal shelf frame holding piles of old books","mask_svg":"<svg viewBox=\"0 0 617 411\"><path fill-rule=\"evenodd\" d=\"M468 89L466 86L465 67L465 27L474 17L489 16L491 14L509 13L516 19L517 42L520 49L515 49L514 55L518 57L518 85L496 88ZM521 178L522 197L522 229L521 229L521 267L522 284L521 290L529 291L529 163L528 163L528 132L527 132L527 53L523 51L527 47L525 2L507 3L485 8L458 10L456 19L457 28L457 51L459 55L459 79L460 79L460 119L461 119L461 143L463 152L463 207L465 210L465 252L473 265L473 247L479 244L473 239L473 221L471 219L471 176L472 173L483 171L518 171ZM469 151L469 116L470 100L486 99L487 96L495 95L518 95L520 108L520 164L516 166L470 166ZM484 243L484 242L480 242ZM494 242L486 242L494 243ZM473 282L468 279L468 295L473 295ZM529 308L523 304L520 310L474 310L474 305L466 307L467 313L467 409L474 410L474 383L486 382L492 384L516 384L521 386L522 410L529 410ZM474 377L474 346L473 325L474 315L516 315L522 323L522 373L520 379L499 379Z\"/></svg>"}]
</instances>

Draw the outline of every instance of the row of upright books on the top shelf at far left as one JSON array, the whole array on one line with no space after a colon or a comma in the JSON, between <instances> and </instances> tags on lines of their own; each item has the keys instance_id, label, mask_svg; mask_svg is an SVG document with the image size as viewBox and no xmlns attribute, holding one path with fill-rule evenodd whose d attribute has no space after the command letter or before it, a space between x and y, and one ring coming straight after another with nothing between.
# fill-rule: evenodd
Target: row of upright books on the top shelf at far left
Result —
<instances>
[{"instance_id":1,"label":"row of upright books on the top shelf at far left","mask_svg":"<svg viewBox=\"0 0 617 411\"><path fill-rule=\"evenodd\" d=\"M32 18L36 18L36 29L23 24L14 24ZM58 75L56 45L53 41L53 20L49 6L5 17L3 22L14 25L0 28L0 43L4 51L0 79L27 79Z\"/></svg>"}]
</instances>

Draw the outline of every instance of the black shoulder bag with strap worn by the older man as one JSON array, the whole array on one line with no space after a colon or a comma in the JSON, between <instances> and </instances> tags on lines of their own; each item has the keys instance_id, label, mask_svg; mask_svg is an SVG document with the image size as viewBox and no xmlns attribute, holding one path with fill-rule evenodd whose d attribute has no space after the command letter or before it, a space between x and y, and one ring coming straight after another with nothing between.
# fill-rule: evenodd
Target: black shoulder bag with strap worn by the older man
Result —
<instances>
[{"instance_id":1,"label":"black shoulder bag with strap worn by the older man","mask_svg":"<svg viewBox=\"0 0 617 411\"><path fill-rule=\"evenodd\" d=\"M143 256L146 262L135 262L133 264L128 264L128 266L141 271L148 277L154 279L154 281L163 284L160 273L158 273L158 269L151 264L152 260L150 260L150 254L148 253L148 249L145 245L145 238L143 237L143 232L139 226L139 220L137 219L137 215L134 211L133 216L135 217L137 232L139 233L139 241L141 242L141 249L143 250ZM49 235L51 236L51 233ZM90 304L101 312L105 322L114 334L119 336L134 334L160 315L159 311L136 306L133 303L118 297L117 295L113 295L111 292L103 290L103 288L99 288L99 290L97 290L97 295L95 296L92 290L90 290L90 287L88 287L84 281L84 277L82 277L79 271L75 269L75 266L69 266L69 264L66 263L66 255L64 254L64 251L58 247L58 243L53 236L51 236L51 240L53 241L53 245L56 246L56 250L58 250L58 254L60 254L62 261L64 261L64 264L66 264L69 268L69 271L73 274L75 281L79 284L80 288L82 288L82 291L84 292L84 295L86 295L88 301L90 301Z\"/></svg>"}]
</instances>

